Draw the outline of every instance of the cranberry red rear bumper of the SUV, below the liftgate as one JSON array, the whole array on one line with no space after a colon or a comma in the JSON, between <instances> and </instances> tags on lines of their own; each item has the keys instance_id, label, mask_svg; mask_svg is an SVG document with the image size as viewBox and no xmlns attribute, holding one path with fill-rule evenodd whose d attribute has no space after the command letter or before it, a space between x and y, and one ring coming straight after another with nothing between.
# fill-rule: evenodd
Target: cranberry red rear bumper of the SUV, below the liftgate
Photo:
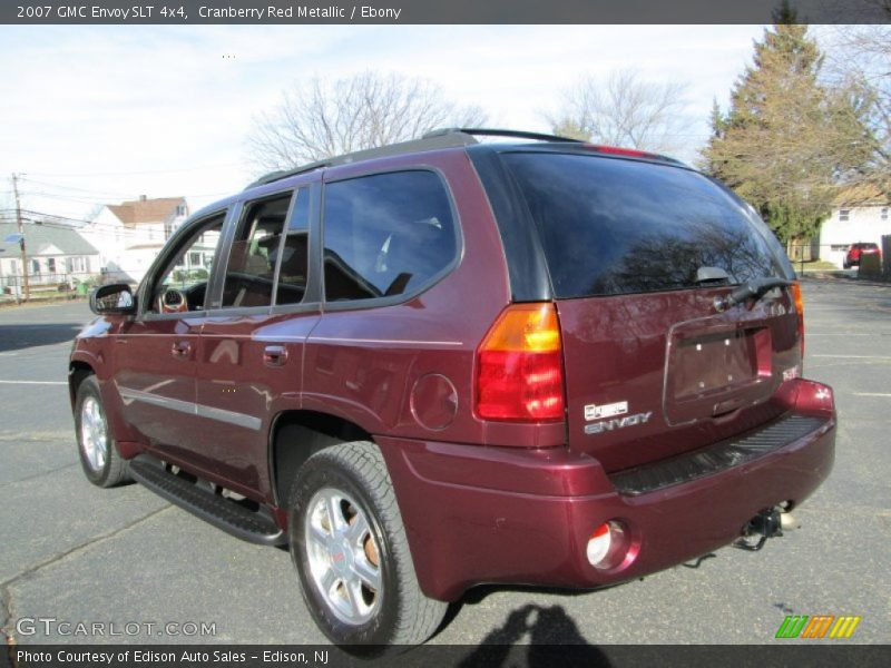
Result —
<instances>
[{"instance_id":1,"label":"cranberry red rear bumper of the SUV, below the liftgate","mask_svg":"<svg viewBox=\"0 0 891 668\"><path fill-rule=\"evenodd\" d=\"M483 582L597 588L726 546L760 510L801 503L832 469L832 391L803 380L786 385L791 414L820 419L813 431L645 493L619 493L595 459L560 448L378 439L422 589L454 600ZM603 570L588 563L585 550L607 520L629 529L630 548Z\"/></svg>"}]
</instances>

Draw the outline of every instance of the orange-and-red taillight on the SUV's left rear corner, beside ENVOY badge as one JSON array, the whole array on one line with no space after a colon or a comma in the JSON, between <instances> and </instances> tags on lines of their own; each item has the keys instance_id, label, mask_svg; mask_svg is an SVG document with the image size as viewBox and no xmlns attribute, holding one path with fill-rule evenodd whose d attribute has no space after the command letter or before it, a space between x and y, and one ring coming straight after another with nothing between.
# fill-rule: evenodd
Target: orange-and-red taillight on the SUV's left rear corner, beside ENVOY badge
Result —
<instances>
[{"instance_id":1,"label":"orange-and-red taillight on the SUV's left rear corner, beside ENVOY badge","mask_svg":"<svg viewBox=\"0 0 891 668\"><path fill-rule=\"evenodd\" d=\"M560 324L551 303L515 304L477 348L477 415L529 422L564 419Z\"/></svg>"}]
</instances>

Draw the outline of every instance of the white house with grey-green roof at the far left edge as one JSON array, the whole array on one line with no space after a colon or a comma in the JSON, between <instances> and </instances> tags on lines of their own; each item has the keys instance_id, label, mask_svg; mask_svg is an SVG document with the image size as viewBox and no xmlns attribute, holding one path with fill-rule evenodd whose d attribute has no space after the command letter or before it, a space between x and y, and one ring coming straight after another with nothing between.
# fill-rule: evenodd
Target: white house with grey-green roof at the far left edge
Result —
<instances>
[{"instance_id":1,"label":"white house with grey-green roof at the far left edge","mask_svg":"<svg viewBox=\"0 0 891 668\"><path fill-rule=\"evenodd\" d=\"M99 252L74 227L59 223L28 223L25 249L28 257L28 283L40 286L84 282L99 273ZM23 285L19 228L14 223L0 223L0 289L14 292Z\"/></svg>"}]
</instances>

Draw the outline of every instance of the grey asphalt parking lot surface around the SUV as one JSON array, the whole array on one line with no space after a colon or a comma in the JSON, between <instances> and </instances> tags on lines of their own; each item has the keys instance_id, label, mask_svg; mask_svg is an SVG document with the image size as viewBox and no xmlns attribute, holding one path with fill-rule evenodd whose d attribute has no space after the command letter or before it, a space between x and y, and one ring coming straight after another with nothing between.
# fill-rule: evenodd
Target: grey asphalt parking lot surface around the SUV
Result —
<instances>
[{"instance_id":1,"label":"grey asphalt parking lot surface around the SUV","mask_svg":"<svg viewBox=\"0 0 891 668\"><path fill-rule=\"evenodd\" d=\"M840 426L832 475L795 511L801 529L757 553L725 548L597 592L480 587L431 642L770 644L786 615L860 616L849 642L891 642L891 286L807 281L804 297L805 376L834 387ZM2 633L21 645L325 642L286 551L137 484L84 478L66 371L90 317L84 303L0 310Z\"/></svg>"}]
</instances>

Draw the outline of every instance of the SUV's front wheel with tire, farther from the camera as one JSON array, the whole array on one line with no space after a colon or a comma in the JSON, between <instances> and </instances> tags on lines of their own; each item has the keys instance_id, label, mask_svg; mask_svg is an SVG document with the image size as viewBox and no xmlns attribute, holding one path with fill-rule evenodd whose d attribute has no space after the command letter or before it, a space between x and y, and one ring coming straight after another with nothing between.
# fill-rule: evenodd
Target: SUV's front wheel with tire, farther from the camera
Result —
<instances>
[{"instance_id":1,"label":"SUV's front wheel with tire, farther from the camera","mask_svg":"<svg viewBox=\"0 0 891 668\"><path fill-rule=\"evenodd\" d=\"M108 429L108 420L95 375L84 379L77 389L75 429L84 473L92 484L110 488L130 480L127 461L118 454Z\"/></svg>"}]
</instances>

